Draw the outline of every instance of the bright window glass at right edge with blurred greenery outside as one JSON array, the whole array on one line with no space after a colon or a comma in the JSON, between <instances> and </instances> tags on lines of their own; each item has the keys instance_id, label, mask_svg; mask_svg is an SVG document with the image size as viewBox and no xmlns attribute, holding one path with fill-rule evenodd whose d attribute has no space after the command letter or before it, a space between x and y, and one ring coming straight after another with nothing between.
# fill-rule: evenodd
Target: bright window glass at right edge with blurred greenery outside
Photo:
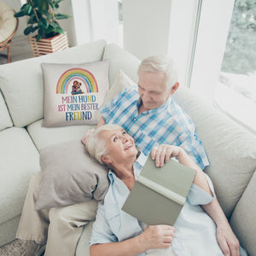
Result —
<instances>
[{"instance_id":1,"label":"bright window glass at right edge with blurred greenery outside","mask_svg":"<svg viewBox=\"0 0 256 256\"><path fill-rule=\"evenodd\" d=\"M214 105L256 131L256 4L236 0Z\"/></svg>"}]
</instances>

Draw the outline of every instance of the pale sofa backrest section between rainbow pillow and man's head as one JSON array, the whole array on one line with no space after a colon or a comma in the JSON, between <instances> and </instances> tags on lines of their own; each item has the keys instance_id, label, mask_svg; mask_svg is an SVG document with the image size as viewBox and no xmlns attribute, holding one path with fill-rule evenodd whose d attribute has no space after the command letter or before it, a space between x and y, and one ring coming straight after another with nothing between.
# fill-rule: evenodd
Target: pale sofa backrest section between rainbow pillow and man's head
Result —
<instances>
[{"instance_id":1,"label":"pale sofa backrest section between rainbow pillow and man's head","mask_svg":"<svg viewBox=\"0 0 256 256\"><path fill-rule=\"evenodd\" d=\"M116 44L108 44L105 48L103 60L108 59L110 61L109 67L109 85L110 87L114 83L115 79L119 74L119 70L123 70L124 73L137 83L137 67L140 61L131 55L125 49L120 48Z\"/></svg>"}]
</instances>

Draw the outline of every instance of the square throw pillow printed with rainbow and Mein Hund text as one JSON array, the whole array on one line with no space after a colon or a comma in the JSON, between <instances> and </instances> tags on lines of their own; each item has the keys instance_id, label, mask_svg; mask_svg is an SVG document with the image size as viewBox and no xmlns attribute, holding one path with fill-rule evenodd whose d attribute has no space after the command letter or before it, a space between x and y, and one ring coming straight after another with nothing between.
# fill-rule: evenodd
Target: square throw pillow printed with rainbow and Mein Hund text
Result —
<instances>
[{"instance_id":1,"label":"square throw pillow printed with rainbow and Mein Hund text","mask_svg":"<svg viewBox=\"0 0 256 256\"><path fill-rule=\"evenodd\" d=\"M96 125L96 111L108 93L109 61L42 63L44 125Z\"/></svg>"}]
</instances>

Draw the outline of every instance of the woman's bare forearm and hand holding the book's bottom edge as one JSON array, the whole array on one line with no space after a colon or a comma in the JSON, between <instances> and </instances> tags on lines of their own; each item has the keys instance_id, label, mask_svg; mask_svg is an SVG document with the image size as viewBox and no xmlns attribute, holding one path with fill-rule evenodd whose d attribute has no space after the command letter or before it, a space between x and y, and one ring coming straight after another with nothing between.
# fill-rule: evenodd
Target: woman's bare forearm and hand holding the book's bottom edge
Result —
<instances>
[{"instance_id":1,"label":"woman's bare forearm and hand holding the book's bottom edge","mask_svg":"<svg viewBox=\"0 0 256 256\"><path fill-rule=\"evenodd\" d=\"M94 244L90 246L91 256L134 256L154 248L168 248L174 236L169 225L148 226L139 236L119 242Z\"/></svg>"}]
</instances>

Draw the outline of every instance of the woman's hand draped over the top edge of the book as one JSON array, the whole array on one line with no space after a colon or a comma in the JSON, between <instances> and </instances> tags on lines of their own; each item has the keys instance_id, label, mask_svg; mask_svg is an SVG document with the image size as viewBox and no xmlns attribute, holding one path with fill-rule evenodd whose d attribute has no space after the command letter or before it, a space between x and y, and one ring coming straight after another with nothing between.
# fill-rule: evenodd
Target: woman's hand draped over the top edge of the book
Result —
<instances>
[{"instance_id":1,"label":"woman's hand draped over the top edge of the book","mask_svg":"<svg viewBox=\"0 0 256 256\"><path fill-rule=\"evenodd\" d=\"M151 158L155 161L155 166L162 167L172 157L177 157L183 148L162 144L151 149Z\"/></svg>"}]
</instances>

